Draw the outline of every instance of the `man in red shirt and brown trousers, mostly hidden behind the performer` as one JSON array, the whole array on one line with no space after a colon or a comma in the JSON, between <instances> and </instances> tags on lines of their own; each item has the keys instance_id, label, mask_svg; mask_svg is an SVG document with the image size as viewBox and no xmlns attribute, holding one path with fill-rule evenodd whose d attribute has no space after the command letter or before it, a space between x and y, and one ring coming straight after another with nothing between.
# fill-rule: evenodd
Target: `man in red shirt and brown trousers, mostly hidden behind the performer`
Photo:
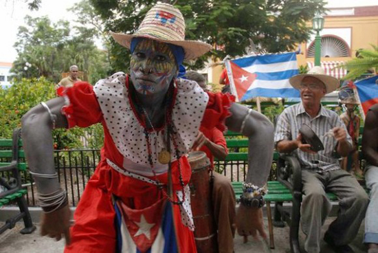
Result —
<instances>
[{"instance_id":1,"label":"man in red shirt and brown trousers, mostly hidden behind the performer","mask_svg":"<svg viewBox=\"0 0 378 253\"><path fill-rule=\"evenodd\" d=\"M197 72L186 73L188 80L196 81L199 86L207 91L205 77ZM199 149L208 155L210 159L212 175L214 176L212 187L212 203L214 208L214 220L218 230L219 253L234 252L235 234L235 193L230 180L224 175L214 171L214 157L225 159L227 156L227 144L223 133L216 127L213 129L199 129L199 135L194 142L193 148Z\"/></svg>"}]
</instances>

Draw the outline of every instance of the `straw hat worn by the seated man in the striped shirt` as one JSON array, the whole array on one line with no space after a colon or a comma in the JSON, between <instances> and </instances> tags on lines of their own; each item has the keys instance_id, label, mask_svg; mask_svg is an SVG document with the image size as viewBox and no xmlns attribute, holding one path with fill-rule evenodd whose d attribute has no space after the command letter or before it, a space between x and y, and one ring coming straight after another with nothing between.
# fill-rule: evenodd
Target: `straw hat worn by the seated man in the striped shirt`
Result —
<instances>
[{"instance_id":1,"label":"straw hat worn by the seated man in the striped shirt","mask_svg":"<svg viewBox=\"0 0 378 253\"><path fill-rule=\"evenodd\" d=\"M331 93L332 91L335 91L340 86L339 80L337 78L334 78L333 76L327 76L324 73L324 69L320 66L315 66L312 69L307 72L307 74L299 74L296 76L293 76L289 79L289 82L291 86L293 86L296 89L300 89L300 85L302 84L303 78L307 76L313 76L315 78L318 78L319 80L324 83L326 86L326 93Z\"/></svg>"}]
</instances>

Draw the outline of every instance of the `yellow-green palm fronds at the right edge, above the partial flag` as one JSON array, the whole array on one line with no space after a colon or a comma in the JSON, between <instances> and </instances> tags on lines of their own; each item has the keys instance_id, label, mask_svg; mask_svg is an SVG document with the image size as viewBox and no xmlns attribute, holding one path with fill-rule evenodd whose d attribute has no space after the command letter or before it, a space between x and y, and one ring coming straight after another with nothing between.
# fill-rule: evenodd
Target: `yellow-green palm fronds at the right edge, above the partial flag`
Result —
<instances>
[{"instance_id":1,"label":"yellow-green palm fronds at the right edge, above the partial flag","mask_svg":"<svg viewBox=\"0 0 378 253\"><path fill-rule=\"evenodd\" d=\"M348 61L343 67L348 70L345 80L355 79L365 74L370 69L375 72L378 70L378 45L371 45L373 50L362 49L358 51L358 57Z\"/></svg>"}]
</instances>

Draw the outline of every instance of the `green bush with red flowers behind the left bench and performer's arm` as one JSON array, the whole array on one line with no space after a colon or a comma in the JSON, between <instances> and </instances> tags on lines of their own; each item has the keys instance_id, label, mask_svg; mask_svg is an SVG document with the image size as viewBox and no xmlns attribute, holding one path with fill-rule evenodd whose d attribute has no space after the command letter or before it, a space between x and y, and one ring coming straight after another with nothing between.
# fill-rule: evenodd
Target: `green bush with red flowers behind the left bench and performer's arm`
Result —
<instances>
[{"instance_id":1,"label":"green bush with red flowers behind the left bench and performer's arm","mask_svg":"<svg viewBox=\"0 0 378 253\"><path fill-rule=\"evenodd\" d=\"M12 138L12 131L21 127L21 117L32 107L55 98L54 83L46 78L16 80L8 89L0 88L0 138ZM53 131L54 148L82 148L87 142L89 148L102 146L102 126L87 129L74 128L69 131Z\"/></svg>"}]
</instances>

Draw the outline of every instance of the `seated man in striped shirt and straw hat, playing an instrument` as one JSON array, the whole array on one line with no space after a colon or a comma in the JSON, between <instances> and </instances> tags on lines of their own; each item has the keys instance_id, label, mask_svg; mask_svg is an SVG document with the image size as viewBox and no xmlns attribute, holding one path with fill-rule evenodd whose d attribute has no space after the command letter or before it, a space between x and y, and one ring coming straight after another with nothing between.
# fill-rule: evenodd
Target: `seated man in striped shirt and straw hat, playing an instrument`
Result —
<instances>
[{"instance_id":1,"label":"seated man in striped shirt and straw hat, playing an instrument","mask_svg":"<svg viewBox=\"0 0 378 253\"><path fill-rule=\"evenodd\" d=\"M355 238L364 219L368 196L355 177L340 169L337 158L333 157L335 150L342 156L353 151L351 137L340 117L320 104L325 94L337 89L339 81L326 76L318 66L289 81L299 89L301 102L282 112L274 141L280 153L293 153L302 166L302 230L307 235L304 249L309 253L320 252L321 227L332 207L326 197L328 191L340 200L340 212L324 235L324 241L335 252L353 252L348 243ZM310 144L304 144L299 133L304 123L320 137L323 151L316 153Z\"/></svg>"}]
</instances>

